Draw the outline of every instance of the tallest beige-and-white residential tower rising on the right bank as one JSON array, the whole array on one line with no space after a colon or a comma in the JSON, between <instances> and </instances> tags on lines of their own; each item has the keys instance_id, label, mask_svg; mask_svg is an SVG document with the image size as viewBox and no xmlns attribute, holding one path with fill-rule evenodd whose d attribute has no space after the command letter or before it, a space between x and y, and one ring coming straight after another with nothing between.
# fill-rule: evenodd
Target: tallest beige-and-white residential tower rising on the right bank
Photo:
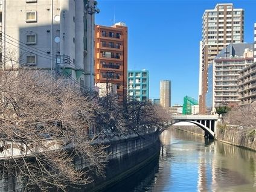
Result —
<instances>
[{"instance_id":1,"label":"tallest beige-and-white residential tower rising on the right bank","mask_svg":"<svg viewBox=\"0 0 256 192\"><path fill-rule=\"evenodd\" d=\"M243 42L244 11L233 4L217 4L203 13L199 63L199 112L206 113L208 65L229 43Z\"/></svg>"}]
</instances>

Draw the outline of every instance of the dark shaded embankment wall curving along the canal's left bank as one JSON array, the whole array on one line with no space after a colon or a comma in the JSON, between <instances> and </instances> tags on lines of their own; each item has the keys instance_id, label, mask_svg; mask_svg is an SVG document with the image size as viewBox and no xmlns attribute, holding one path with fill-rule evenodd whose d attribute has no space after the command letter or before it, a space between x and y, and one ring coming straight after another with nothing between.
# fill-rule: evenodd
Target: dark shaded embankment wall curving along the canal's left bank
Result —
<instances>
[{"instance_id":1,"label":"dark shaded embankment wall curving along the canal's left bank","mask_svg":"<svg viewBox=\"0 0 256 192\"><path fill-rule=\"evenodd\" d=\"M109 142L107 152L110 155L105 176L95 178L81 191L101 191L111 187L157 158L160 152L159 132Z\"/></svg>"}]
</instances>

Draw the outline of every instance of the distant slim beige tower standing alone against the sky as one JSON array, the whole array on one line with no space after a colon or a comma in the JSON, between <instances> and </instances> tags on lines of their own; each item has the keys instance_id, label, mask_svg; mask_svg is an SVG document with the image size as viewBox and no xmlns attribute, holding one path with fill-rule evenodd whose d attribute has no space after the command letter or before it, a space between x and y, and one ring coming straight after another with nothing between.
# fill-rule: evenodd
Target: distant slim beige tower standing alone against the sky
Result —
<instances>
[{"instance_id":1,"label":"distant slim beige tower standing alone against the sky","mask_svg":"<svg viewBox=\"0 0 256 192\"><path fill-rule=\"evenodd\" d=\"M162 80L160 82L160 106L162 106L167 112L171 107L171 81Z\"/></svg>"}]
</instances>

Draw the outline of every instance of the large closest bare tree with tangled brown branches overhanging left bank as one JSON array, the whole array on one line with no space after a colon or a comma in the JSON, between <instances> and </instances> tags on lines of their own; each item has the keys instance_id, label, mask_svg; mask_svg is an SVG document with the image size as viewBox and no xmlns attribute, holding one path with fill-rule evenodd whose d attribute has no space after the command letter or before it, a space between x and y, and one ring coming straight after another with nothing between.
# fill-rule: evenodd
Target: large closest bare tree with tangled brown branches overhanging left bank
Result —
<instances>
[{"instance_id":1,"label":"large closest bare tree with tangled brown branches overhanging left bank","mask_svg":"<svg viewBox=\"0 0 256 192\"><path fill-rule=\"evenodd\" d=\"M1 174L23 178L27 188L42 191L88 184L89 171L103 174L106 161L104 146L92 145L88 135L99 126L95 113L101 111L95 98L48 72L0 71L1 152L10 150L10 142L20 151L19 158L0 160ZM88 171L77 169L75 158Z\"/></svg>"}]
</instances>

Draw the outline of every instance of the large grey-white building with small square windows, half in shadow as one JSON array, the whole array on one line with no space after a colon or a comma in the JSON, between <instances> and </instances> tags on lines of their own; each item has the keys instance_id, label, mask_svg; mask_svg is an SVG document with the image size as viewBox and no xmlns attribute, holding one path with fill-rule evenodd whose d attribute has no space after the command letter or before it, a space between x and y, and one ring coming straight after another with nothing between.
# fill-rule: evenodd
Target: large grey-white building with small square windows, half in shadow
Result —
<instances>
[{"instance_id":1,"label":"large grey-white building with small square windows, half in shadow","mask_svg":"<svg viewBox=\"0 0 256 192\"><path fill-rule=\"evenodd\" d=\"M2 67L62 71L94 85L94 0L2 0Z\"/></svg>"}]
</instances>

